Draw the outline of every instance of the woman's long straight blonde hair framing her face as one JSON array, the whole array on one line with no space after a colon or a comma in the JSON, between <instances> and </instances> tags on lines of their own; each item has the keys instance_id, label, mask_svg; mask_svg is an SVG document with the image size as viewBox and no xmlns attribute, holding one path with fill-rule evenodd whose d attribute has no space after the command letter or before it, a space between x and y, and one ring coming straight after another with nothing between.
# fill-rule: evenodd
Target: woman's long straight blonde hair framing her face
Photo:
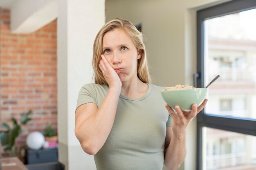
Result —
<instances>
[{"instance_id":1,"label":"woman's long straight blonde hair framing her face","mask_svg":"<svg viewBox=\"0 0 256 170\"><path fill-rule=\"evenodd\" d=\"M106 23L97 34L93 44L92 66L94 69L94 80L96 84L108 85L99 68L99 61L102 54L103 36L114 29L123 29L130 36L137 50L141 51L141 57L138 59L137 76L144 83L151 83L151 77L148 70L148 62L145 45L143 43L143 35L128 20L116 18Z\"/></svg>"}]
</instances>

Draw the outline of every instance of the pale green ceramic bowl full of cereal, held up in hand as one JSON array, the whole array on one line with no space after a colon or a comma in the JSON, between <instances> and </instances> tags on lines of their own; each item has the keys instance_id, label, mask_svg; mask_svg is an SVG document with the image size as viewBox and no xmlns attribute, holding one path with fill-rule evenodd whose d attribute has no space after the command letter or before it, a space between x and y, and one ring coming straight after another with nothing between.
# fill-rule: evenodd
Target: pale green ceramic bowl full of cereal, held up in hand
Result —
<instances>
[{"instance_id":1,"label":"pale green ceramic bowl full of cereal, held up in hand","mask_svg":"<svg viewBox=\"0 0 256 170\"><path fill-rule=\"evenodd\" d=\"M161 91L164 101L174 108L180 106L182 110L191 110L192 104L200 106L208 93L208 88L186 88L179 90Z\"/></svg>"}]
</instances>

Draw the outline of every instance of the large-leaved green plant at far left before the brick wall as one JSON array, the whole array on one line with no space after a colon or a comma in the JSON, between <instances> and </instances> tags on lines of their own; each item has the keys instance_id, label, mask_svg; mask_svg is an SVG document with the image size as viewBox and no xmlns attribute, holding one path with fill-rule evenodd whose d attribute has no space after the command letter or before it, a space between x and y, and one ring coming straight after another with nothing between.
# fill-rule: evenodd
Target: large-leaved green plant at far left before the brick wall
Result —
<instances>
[{"instance_id":1,"label":"large-leaved green plant at far left before the brick wall","mask_svg":"<svg viewBox=\"0 0 256 170\"><path fill-rule=\"evenodd\" d=\"M10 150L12 155L15 156L16 150L14 147L16 138L22 133L21 125L27 124L31 120L29 115L31 114L31 110L29 110L26 114L21 114L20 124L17 123L14 117L11 118L12 127L10 127L7 123L2 123L0 130L0 142L4 151Z\"/></svg>"}]
</instances>

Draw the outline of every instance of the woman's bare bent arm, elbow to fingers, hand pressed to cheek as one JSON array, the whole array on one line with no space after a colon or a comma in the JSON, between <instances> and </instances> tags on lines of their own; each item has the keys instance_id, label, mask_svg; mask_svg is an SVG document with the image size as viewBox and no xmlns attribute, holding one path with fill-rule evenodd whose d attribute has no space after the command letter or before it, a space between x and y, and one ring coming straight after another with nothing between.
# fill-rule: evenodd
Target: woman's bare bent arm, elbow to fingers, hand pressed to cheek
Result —
<instances>
[{"instance_id":1,"label":"woman's bare bent arm, elbow to fingers, hand pressed to cheek","mask_svg":"<svg viewBox=\"0 0 256 170\"><path fill-rule=\"evenodd\" d=\"M99 109L94 103L79 106L75 117L75 134L83 150L95 155L106 142L113 126L122 83L104 55L101 55L99 68L109 90Z\"/></svg>"}]
</instances>

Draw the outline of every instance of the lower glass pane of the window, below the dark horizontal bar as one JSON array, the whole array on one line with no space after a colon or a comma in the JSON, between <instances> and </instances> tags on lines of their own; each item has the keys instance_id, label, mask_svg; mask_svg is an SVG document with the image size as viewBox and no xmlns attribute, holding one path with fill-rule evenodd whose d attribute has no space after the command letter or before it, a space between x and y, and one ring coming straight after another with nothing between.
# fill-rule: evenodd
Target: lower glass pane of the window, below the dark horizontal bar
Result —
<instances>
[{"instance_id":1,"label":"lower glass pane of the window, below the dark horizontal bar","mask_svg":"<svg viewBox=\"0 0 256 170\"><path fill-rule=\"evenodd\" d=\"M202 170L256 170L256 137L203 127Z\"/></svg>"}]
</instances>

